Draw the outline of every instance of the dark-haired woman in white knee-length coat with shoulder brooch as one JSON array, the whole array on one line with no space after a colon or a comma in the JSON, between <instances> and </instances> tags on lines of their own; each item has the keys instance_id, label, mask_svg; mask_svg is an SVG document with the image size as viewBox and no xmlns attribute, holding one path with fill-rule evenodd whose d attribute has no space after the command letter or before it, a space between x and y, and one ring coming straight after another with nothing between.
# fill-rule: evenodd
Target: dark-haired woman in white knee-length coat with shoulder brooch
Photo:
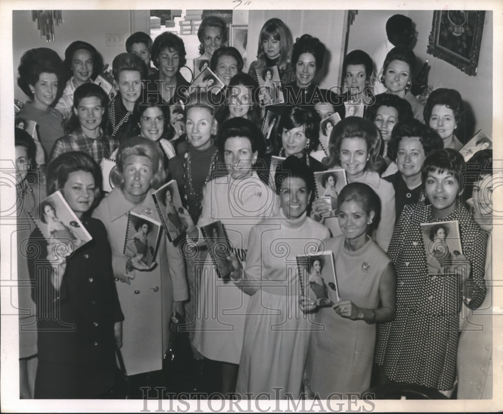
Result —
<instances>
[{"instance_id":1,"label":"dark-haired woman in white knee-length coat with shoulder brooch","mask_svg":"<svg viewBox=\"0 0 503 414\"><path fill-rule=\"evenodd\" d=\"M257 159L264 152L262 135L253 122L232 118L219 129L217 146L223 154L228 174L208 182L203 190L197 227L189 226L187 234L189 241L204 244L199 229L220 220L233 251L244 262L251 229L262 219L270 217L274 207L272 190L254 170ZM190 220L188 214L183 217ZM210 256L206 258L202 274L197 303L203 315L216 312L216 317L196 318L193 345L206 358L222 363L222 392L233 392L249 296L227 275L222 279L217 277Z\"/></svg>"}]
</instances>

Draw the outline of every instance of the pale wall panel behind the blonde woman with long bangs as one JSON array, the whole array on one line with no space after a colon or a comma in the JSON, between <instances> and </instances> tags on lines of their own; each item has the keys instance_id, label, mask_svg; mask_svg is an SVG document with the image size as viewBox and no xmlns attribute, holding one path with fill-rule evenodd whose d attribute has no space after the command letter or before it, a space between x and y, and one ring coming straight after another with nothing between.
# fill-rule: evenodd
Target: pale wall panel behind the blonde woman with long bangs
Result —
<instances>
[{"instance_id":1,"label":"pale wall panel behind the blonde woman with long bangs","mask_svg":"<svg viewBox=\"0 0 503 414\"><path fill-rule=\"evenodd\" d=\"M250 10L248 13L248 60L257 59L260 30L264 23L277 17L290 28L293 41L303 34L317 37L327 49L323 68L316 81L321 88L340 85L347 12L344 10ZM321 24L322 22L322 24Z\"/></svg>"}]
</instances>

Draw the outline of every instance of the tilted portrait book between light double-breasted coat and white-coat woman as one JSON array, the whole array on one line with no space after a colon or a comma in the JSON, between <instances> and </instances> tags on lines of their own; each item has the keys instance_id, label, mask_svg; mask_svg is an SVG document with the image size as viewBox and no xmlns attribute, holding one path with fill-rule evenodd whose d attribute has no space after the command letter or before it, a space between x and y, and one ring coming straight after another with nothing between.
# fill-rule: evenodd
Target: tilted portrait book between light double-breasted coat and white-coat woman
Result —
<instances>
[{"instance_id":1,"label":"tilted portrait book between light double-breasted coat and white-coat woman","mask_svg":"<svg viewBox=\"0 0 503 414\"><path fill-rule=\"evenodd\" d=\"M189 225L185 219L180 217L180 213L183 213L183 205L177 181L171 180L159 187L152 193L152 197L167 239L178 245L186 236Z\"/></svg>"}]
</instances>

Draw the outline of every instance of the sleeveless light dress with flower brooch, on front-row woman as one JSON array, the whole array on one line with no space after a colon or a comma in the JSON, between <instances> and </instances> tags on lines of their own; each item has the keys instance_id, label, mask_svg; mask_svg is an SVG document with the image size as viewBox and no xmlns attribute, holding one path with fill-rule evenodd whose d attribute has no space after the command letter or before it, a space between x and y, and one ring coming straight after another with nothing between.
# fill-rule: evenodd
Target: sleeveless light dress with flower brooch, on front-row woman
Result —
<instances>
[{"instance_id":1,"label":"sleeveless light dress with flower brooch, on front-row woman","mask_svg":"<svg viewBox=\"0 0 503 414\"><path fill-rule=\"evenodd\" d=\"M390 260L370 238L356 252L346 249L344 240L338 236L323 241L324 249L333 252L339 296L375 309L381 276ZM328 292L336 302L333 291ZM314 321L318 325L311 334L306 365L310 390L328 399L331 393L362 393L370 388L376 325L344 318L332 307L320 308Z\"/></svg>"}]
</instances>

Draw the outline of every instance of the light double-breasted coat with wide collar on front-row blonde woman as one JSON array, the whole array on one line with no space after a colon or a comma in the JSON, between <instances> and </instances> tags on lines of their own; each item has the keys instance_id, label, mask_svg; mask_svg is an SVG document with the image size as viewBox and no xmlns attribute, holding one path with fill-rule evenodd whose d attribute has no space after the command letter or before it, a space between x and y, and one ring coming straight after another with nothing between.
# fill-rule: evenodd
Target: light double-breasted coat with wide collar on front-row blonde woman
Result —
<instances>
[{"instance_id":1,"label":"light double-breasted coat with wide collar on front-row blonde woman","mask_svg":"<svg viewBox=\"0 0 503 414\"><path fill-rule=\"evenodd\" d=\"M126 278L127 257L123 255L128 211L159 220L149 190L142 203L134 205L116 187L93 213L107 228L112 246L112 266L117 279L117 292L124 313L123 347L121 349L128 375L160 370L169 343L169 320L173 301L188 298L185 265L177 247L166 243L163 231L151 271L133 270ZM121 280L127 279L127 282Z\"/></svg>"}]
</instances>

